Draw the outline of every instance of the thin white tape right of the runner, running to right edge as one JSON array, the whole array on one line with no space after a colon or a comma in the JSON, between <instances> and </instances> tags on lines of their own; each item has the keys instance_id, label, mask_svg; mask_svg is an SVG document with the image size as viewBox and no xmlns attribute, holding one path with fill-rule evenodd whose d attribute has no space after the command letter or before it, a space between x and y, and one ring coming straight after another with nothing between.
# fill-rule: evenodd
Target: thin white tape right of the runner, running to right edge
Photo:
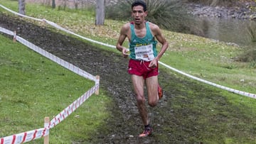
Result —
<instances>
[{"instance_id":1,"label":"thin white tape right of the runner, running to right edge","mask_svg":"<svg viewBox=\"0 0 256 144\"><path fill-rule=\"evenodd\" d=\"M250 93L248 93L248 92L242 92L242 91L239 91L239 90L236 90L236 89L231 89L231 88L229 88L229 87L224 87L224 86L221 86L220 84L215 84L215 83L213 83L213 82L208 82L208 81L206 81L206 80L204 80L204 79L200 79L200 78L194 77L194 76L192 76L192 75L190 75L190 74L186 74L185 72L181 72L180 70L176 70L176 69L174 69L173 67L170 67L169 65L164 64L163 62L159 62L159 64L164 65L165 67L167 67L167 68L173 70L174 72L178 72L178 73L180 73L180 74L185 75L186 77L190 77L191 79L196 79L196 80L198 80L198 81L200 81L200 82L203 82L203 83L206 83L206 84L210 84L210 85L212 85L212 86L214 86L214 87L218 87L218 88L220 88L220 89L225 89L225 90L227 90L227 91L229 91L229 92L233 92L233 93L235 93L235 94L240 94L240 95L242 95L242 96L248 96L248 97L251 97L251 98L256 99L256 94L250 94Z\"/></svg>"}]
</instances>

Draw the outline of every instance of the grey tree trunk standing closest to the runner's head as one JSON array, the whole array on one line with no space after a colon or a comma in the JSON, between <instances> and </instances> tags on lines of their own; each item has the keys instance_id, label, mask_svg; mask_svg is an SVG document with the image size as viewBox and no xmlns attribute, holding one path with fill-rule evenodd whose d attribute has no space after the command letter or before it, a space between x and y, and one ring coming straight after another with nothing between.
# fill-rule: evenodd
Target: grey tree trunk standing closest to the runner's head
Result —
<instances>
[{"instance_id":1,"label":"grey tree trunk standing closest to the runner's head","mask_svg":"<svg viewBox=\"0 0 256 144\"><path fill-rule=\"evenodd\" d=\"M95 25L104 25L104 21L105 21L105 0L97 0Z\"/></svg>"}]
</instances>

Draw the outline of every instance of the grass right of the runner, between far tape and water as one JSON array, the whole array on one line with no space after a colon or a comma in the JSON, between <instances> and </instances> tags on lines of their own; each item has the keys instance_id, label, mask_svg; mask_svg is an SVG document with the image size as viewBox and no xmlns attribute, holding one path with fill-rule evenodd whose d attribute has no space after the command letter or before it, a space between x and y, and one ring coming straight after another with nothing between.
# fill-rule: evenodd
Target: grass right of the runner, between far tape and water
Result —
<instances>
[{"instance_id":1,"label":"grass right of the runner, between far tape and water","mask_svg":"<svg viewBox=\"0 0 256 144\"><path fill-rule=\"evenodd\" d=\"M169 35L168 33L166 35ZM256 70L250 63L233 60L242 48L216 43L195 35L177 33L168 37L173 44L161 58L162 62L178 70L245 92L256 93ZM244 80L242 80L244 79Z\"/></svg>"}]
</instances>

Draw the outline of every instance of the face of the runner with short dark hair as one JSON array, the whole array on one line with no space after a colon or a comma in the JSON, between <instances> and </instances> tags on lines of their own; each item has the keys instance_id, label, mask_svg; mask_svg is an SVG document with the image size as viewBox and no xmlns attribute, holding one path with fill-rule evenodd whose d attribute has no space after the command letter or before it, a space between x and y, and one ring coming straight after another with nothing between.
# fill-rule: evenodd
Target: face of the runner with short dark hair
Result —
<instances>
[{"instance_id":1,"label":"face of the runner with short dark hair","mask_svg":"<svg viewBox=\"0 0 256 144\"><path fill-rule=\"evenodd\" d=\"M134 23L139 25L144 22L147 11L143 10L143 6L134 6L132 8L132 18L134 18Z\"/></svg>"}]
</instances>

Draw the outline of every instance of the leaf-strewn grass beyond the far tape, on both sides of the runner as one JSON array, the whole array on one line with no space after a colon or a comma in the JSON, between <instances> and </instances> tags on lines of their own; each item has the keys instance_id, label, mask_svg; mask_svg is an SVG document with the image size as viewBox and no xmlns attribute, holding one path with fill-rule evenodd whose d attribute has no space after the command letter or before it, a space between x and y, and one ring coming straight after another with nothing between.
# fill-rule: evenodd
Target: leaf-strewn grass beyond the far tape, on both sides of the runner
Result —
<instances>
[{"instance_id":1,"label":"leaf-strewn grass beyond the far tape, on both sides of the runner","mask_svg":"<svg viewBox=\"0 0 256 144\"><path fill-rule=\"evenodd\" d=\"M12 1L7 6L14 9L17 5ZM28 16L46 18L74 33L110 45L117 43L119 28L125 23L106 19L105 26L95 26L95 13L85 13L83 12L85 10L61 11L38 4L27 4L26 9ZM256 93L256 79L251 79L251 77L256 77L256 70L250 66L252 64L233 60L243 52L242 48L217 43L195 35L171 31L163 31L163 33L170 47L161 58L161 62L210 82L244 92ZM127 41L124 45L128 45ZM103 46L100 48L117 52L112 48Z\"/></svg>"}]
</instances>

